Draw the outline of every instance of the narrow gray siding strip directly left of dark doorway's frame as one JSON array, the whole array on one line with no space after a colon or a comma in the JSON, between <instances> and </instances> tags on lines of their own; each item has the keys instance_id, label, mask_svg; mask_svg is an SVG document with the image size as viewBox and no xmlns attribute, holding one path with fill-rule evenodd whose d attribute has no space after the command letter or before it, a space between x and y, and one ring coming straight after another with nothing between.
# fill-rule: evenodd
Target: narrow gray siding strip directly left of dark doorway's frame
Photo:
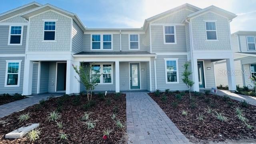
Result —
<instances>
[{"instance_id":1,"label":"narrow gray siding strip directly left of dark doorway's frame","mask_svg":"<svg viewBox=\"0 0 256 144\"><path fill-rule=\"evenodd\" d=\"M55 88L56 88L56 62L49 62L48 92L55 92Z\"/></svg>"}]
</instances>

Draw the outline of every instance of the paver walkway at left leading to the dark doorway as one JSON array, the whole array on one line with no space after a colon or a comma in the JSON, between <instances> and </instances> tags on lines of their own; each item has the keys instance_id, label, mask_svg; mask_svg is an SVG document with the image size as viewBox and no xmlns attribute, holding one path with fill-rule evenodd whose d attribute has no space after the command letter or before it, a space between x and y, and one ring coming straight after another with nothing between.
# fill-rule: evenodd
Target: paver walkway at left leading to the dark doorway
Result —
<instances>
[{"instance_id":1,"label":"paver walkway at left leading to the dark doorway","mask_svg":"<svg viewBox=\"0 0 256 144\"><path fill-rule=\"evenodd\" d=\"M22 100L17 100L15 102L10 102L8 104L3 104L0 106L0 118L4 116L8 116L14 112L27 108L28 106L32 106L37 104L40 100L48 98L53 95L54 97L62 96L63 93L47 93L47 94L39 94L39 95L31 95L29 98L25 98Z\"/></svg>"}]
</instances>

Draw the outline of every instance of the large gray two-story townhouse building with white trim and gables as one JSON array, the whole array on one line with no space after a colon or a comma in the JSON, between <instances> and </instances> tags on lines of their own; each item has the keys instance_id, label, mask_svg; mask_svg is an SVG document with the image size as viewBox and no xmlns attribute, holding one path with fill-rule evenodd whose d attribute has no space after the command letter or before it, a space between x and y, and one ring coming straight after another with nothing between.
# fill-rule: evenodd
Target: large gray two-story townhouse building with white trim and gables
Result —
<instances>
[{"instance_id":1,"label":"large gray two-story townhouse building with white trim and gables","mask_svg":"<svg viewBox=\"0 0 256 144\"><path fill-rule=\"evenodd\" d=\"M215 87L213 62L234 69L230 24L236 15L216 6L183 4L145 20L142 28L86 28L74 13L32 2L0 14L0 93L79 93L72 65L90 65L96 91L193 90ZM234 76L228 77L236 90Z\"/></svg>"}]
</instances>

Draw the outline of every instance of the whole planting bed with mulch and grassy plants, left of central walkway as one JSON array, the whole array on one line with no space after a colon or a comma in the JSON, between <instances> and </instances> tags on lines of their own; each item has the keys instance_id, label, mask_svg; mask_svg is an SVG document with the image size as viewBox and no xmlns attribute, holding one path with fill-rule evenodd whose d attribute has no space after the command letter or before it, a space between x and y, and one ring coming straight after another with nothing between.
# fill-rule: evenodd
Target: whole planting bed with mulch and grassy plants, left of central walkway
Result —
<instances>
[{"instance_id":1,"label":"whole planting bed with mulch and grassy plants, left of central walkway","mask_svg":"<svg viewBox=\"0 0 256 144\"><path fill-rule=\"evenodd\" d=\"M40 126L20 139L5 134L28 123ZM125 94L64 95L41 100L0 119L0 144L27 143L126 143Z\"/></svg>"}]
</instances>

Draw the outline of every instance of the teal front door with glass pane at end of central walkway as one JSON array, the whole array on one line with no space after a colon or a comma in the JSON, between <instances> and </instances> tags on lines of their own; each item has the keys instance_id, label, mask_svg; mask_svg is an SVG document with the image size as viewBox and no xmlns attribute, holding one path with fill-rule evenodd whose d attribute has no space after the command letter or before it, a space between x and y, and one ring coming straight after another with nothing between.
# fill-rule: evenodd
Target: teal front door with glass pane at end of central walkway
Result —
<instances>
[{"instance_id":1,"label":"teal front door with glass pane at end of central walkway","mask_svg":"<svg viewBox=\"0 0 256 144\"><path fill-rule=\"evenodd\" d=\"M130 63L130 89L140 89L139 63Z\"/></svg>"}]
</instances>

